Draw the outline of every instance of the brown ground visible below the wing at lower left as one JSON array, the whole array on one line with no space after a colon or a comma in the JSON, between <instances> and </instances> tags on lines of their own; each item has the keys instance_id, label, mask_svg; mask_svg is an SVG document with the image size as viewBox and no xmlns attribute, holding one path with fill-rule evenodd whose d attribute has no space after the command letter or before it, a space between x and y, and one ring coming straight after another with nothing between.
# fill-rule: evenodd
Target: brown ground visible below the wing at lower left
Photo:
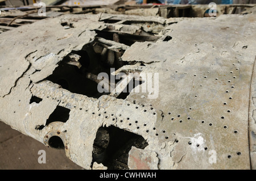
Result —
<instances>
[{"instance_id":1,"label":"brown ground visible below the wing at lower left","mask_svg":"<svg viewBox=\"0 0 256 181\"><path fill-rule=\"evenodd\" d=\"M39 150L46 151L46 163L38 163ZM77 170L82 167L69 160L64 150L48 148L0 121L0 169Z\"/></svg>"}]
</instances>

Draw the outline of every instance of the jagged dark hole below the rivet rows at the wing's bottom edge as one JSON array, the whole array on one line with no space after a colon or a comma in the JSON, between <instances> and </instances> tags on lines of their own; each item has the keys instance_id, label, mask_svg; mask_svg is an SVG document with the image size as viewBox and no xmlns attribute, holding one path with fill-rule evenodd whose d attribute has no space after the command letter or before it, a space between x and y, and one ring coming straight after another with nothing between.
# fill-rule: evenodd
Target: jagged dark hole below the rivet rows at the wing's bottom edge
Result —
<instances>
[{"instance_id":1,"label":"jagged dark hole below the rivet rows at the wing's bottom edge","mask_svg":"<svg viewBox=\"0 0 256 181\"><path fill-rule=\"evenodd\" d=\"M146 140L138 134L114 126L100 127L93 144L93 162L102 163L110 170L129 169L131 146L144 149Z\"/></svg>"}]
</instances>

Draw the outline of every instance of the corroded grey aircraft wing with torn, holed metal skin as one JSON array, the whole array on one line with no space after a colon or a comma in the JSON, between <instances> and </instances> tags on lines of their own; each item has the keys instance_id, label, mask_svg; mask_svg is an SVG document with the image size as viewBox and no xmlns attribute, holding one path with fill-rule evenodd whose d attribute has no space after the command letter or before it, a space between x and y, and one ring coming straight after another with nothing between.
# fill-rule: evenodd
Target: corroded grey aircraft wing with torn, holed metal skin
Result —
<instances>
[{"instance_id":1,"label":"corroded grey aircraft wing with torn, holed metal skin","mask_svg":"<svg viewBox=\"0 0 256 181\"><path fill-rule=\"evenodd\" d=\"M2 32L0 119L84 169L256 169L255 25L100 13Z\"/></svg>"}]
</instances>

